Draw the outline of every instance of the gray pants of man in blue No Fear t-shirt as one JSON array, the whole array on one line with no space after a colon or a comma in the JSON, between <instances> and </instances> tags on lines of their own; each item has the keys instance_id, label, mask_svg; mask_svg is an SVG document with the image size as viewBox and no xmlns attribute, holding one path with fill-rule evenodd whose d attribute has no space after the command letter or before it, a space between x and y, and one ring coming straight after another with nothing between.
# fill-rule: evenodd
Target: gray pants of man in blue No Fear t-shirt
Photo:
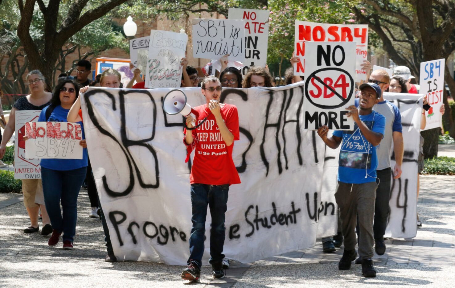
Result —
<instances>
[{"instance_id":1,"label":"gray pants of man in blue No Fear t-shirt","mask_svg":"<svg viewBox=\"0 0 455 288\"><path fill-rule=\"evenodd\" d=\"M352 250L357 244L355 226L359 215L361 259L372 258L374 255L373 219L377 187L376 182L363 184L338 182L337 192L335 192L335 199L340 209L345 250Z\"/></svg>"}]
</instances>

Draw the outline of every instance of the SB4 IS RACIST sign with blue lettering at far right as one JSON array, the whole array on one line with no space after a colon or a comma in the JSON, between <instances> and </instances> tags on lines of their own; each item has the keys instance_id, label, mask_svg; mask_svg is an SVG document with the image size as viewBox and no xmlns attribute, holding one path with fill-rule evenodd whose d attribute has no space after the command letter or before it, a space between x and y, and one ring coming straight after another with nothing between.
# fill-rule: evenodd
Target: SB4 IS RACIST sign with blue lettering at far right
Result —
<instances>
[{"instance_id":1,"label":"SB4 IS RACIST sign with blue lettering at far right","mask_svg":"<svg viewBox=\"0 0 455 288\"><path fill-rule=\"evenodd\" d=\"M444 96L445 59L420 63L420 93L426 94L431 108L425 111L426 126L423 130L442 126L442 114L439 109Z\"/></svg>"}]
</instances>

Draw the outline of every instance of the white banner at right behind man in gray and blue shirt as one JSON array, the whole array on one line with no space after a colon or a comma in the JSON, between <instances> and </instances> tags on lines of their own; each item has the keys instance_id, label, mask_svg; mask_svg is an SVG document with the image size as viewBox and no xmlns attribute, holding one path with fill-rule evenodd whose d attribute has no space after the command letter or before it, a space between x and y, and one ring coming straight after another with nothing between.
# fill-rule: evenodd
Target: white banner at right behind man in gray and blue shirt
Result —
<instances>
[{"instance_id":1,"label":"white banner at right behind man in gray and blue shirt","mask_svg":"<svg viewBox=\"0 0 455 288\"><path fill-rule=\"evenodd\" d=\"M412 238L417 234L417 160L423 95L385 92L384 99L399 108L404 139L403 172L399 179L392 177L390 215L385 233L388 237ZM390 165L393 169L394 155Z\"/></svg>"}]
</instances>

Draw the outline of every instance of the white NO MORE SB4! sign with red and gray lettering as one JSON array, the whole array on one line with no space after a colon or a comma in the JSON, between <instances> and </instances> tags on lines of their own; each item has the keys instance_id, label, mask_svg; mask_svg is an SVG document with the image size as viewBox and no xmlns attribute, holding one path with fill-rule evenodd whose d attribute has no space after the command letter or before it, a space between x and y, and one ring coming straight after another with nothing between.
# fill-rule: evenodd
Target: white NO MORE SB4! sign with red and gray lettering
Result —
<instances>
[{"instance_id":1,"label":"white NO MORE SB4! sign with red and gray lettering","mask_svg":"<svg viewBox=\"0 0 455 288\"><path fill-rule=\"evenodd\" d=\"M69 122L25 122L25 157L82 159L81 124Z\"/></svg>"}]
</instances>

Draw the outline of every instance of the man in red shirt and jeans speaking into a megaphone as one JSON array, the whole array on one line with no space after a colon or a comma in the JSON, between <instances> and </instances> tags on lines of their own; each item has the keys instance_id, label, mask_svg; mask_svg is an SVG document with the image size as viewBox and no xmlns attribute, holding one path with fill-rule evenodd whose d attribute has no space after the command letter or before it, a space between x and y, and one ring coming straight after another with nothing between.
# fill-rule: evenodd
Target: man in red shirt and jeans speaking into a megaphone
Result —
<instances>
[{"instance_id":1,"label":"man in red shirt and jeans speaking into a megaphone","mask_svg":"<svg viewBox=\"0 0 455 288\"><path fill-rule=\"evenodd\" d=\"M222 252L227 192L231 184L240 183L232 159L234 141L239 139L237 107L219 103L222 87L217 77L208 76L202 80L201 88L207 104L194 107L199 117L187 116L186 124L192 128L192 123L200 124L205 117L207 120L194 130L185 129L183 139L188 156L196 149L190 174L193 223L189 239L190 257L188 267L182 272L182 278L190 281L198 281L201 275L207 205L212 216L209 260L212 277L224 276Z\"/></svg>"}]
</instances>

